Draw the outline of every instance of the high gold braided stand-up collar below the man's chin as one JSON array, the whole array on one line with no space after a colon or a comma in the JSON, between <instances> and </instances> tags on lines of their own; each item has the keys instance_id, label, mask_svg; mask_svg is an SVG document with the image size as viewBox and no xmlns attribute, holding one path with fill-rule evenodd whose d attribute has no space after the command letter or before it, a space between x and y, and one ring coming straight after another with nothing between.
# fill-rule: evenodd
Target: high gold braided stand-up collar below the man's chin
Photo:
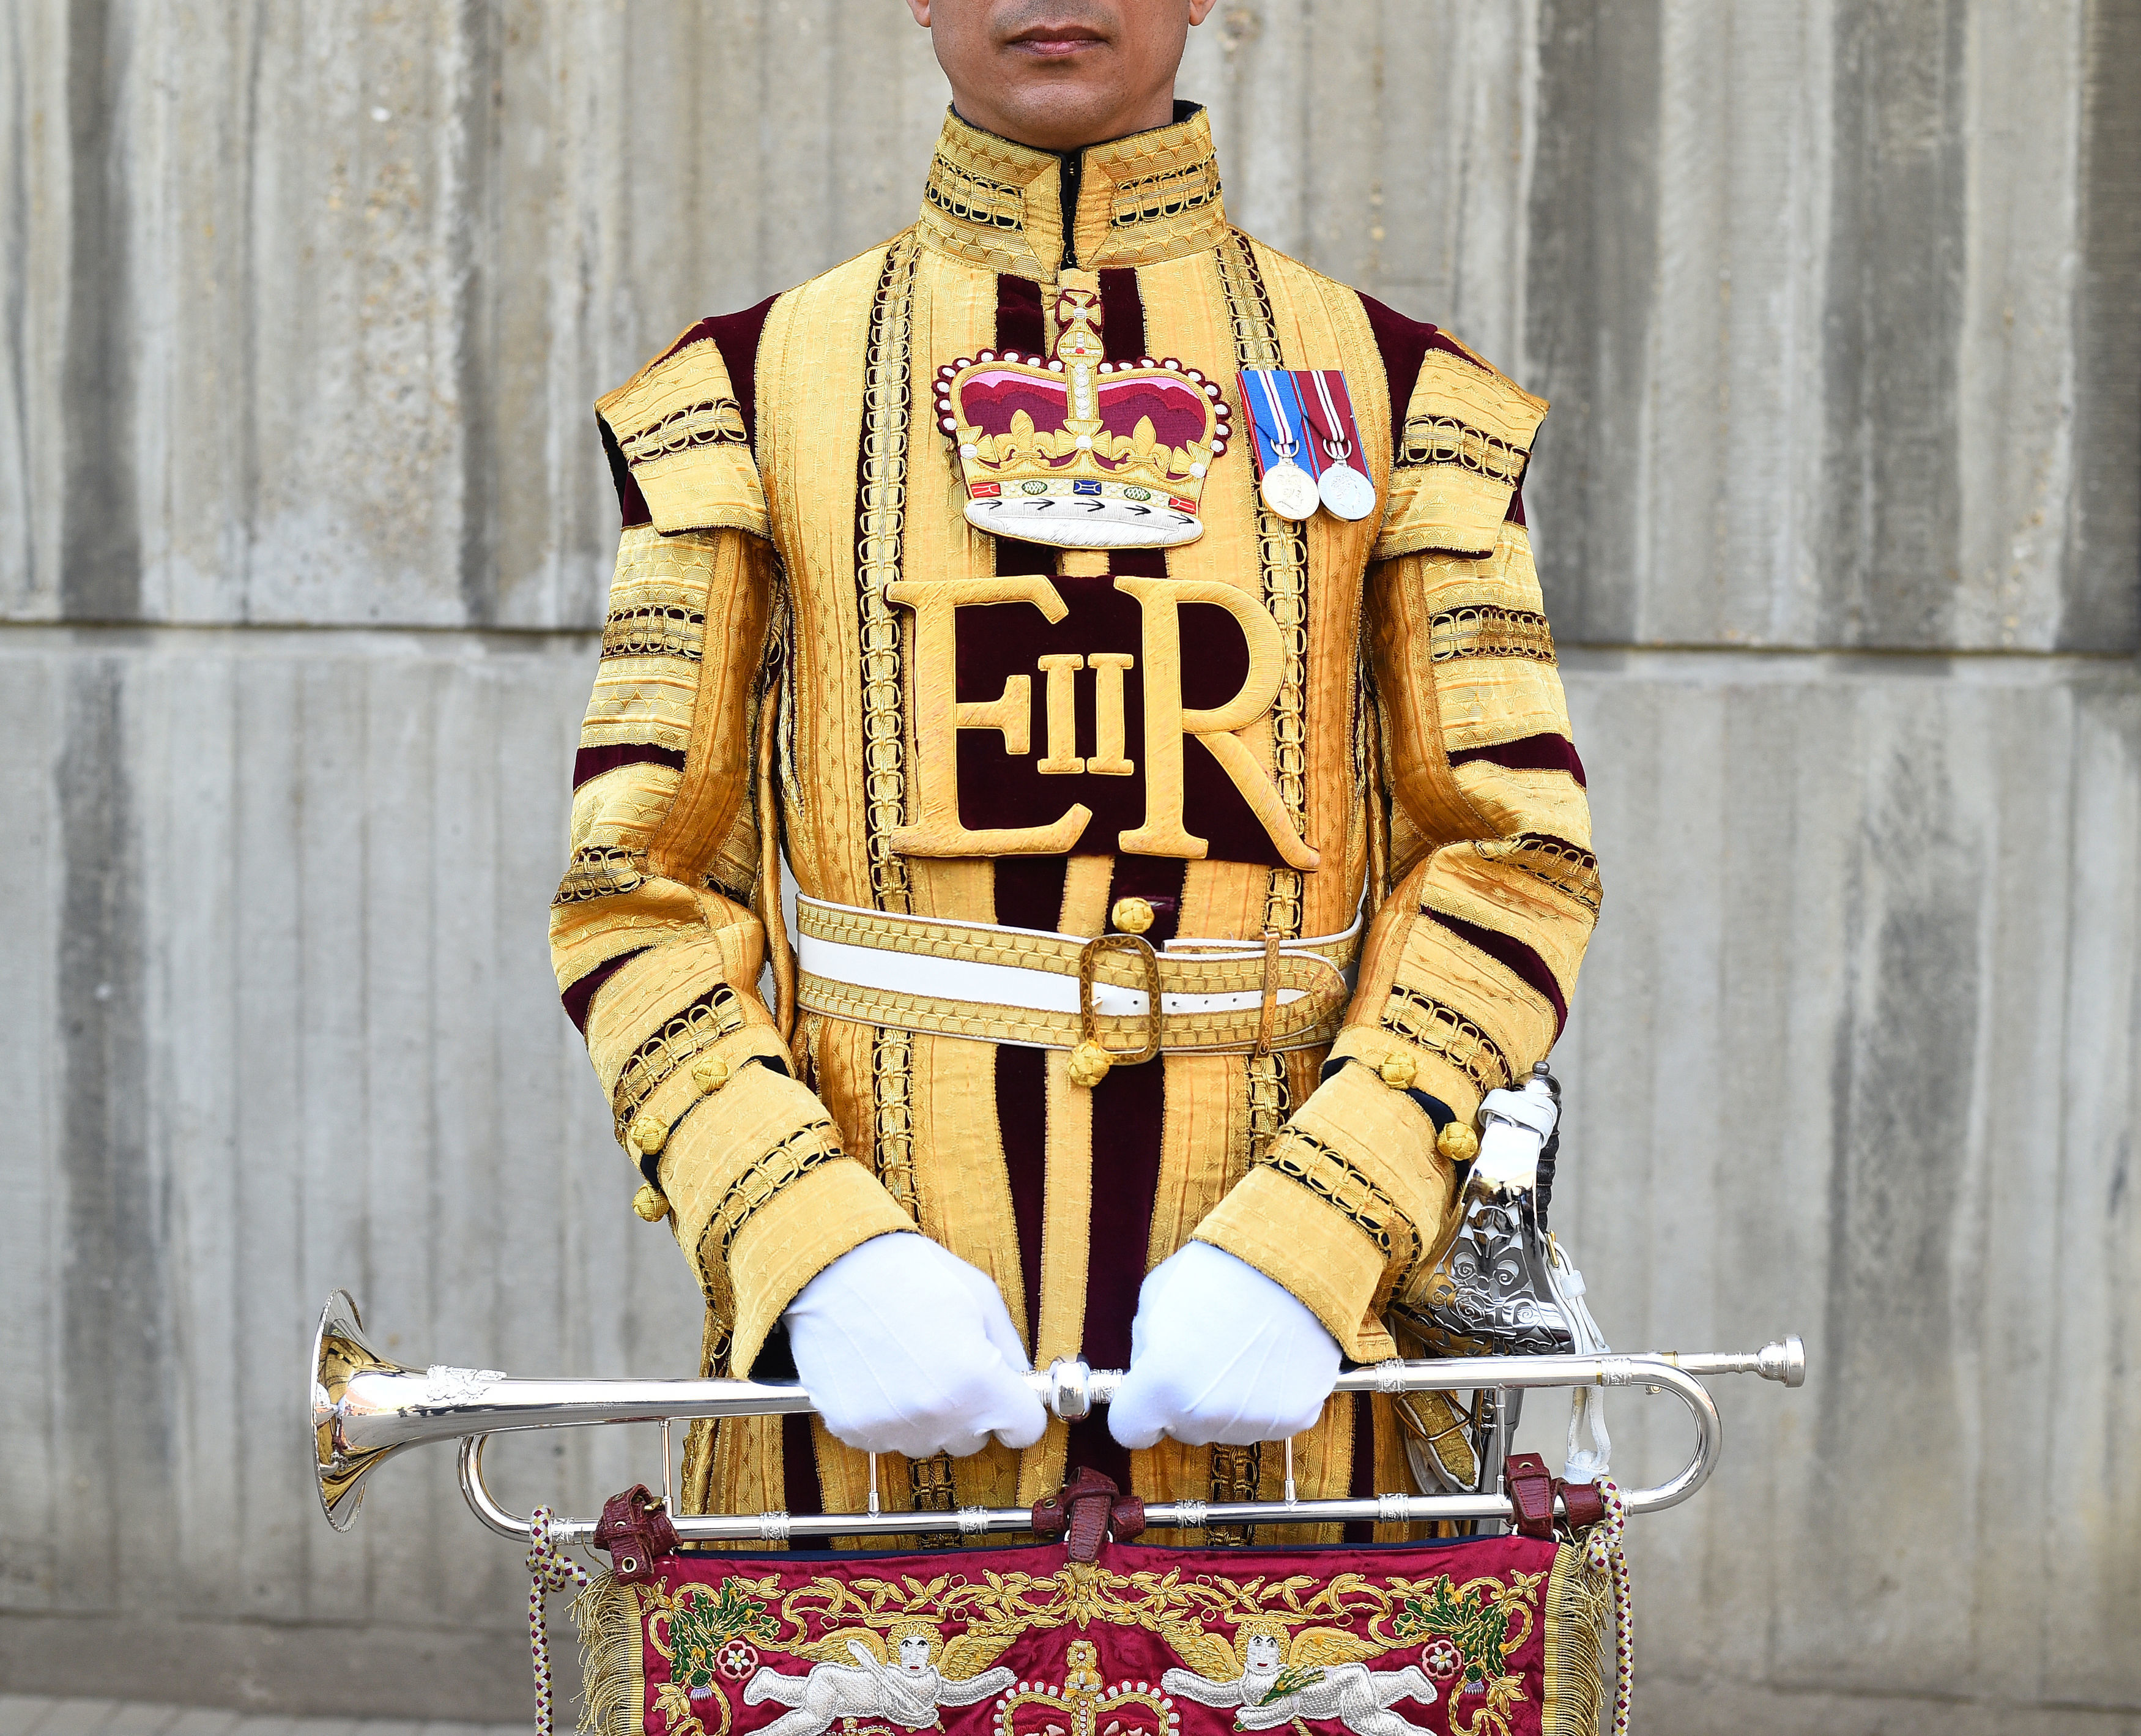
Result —
<instances>
[{"instance_id":1,"label":"high gold braided stand-up collar below the man's chin","mask_svg":"<svg viewBox=\"0 0 2141 1736\"><path fill-rule=\"evenodd\" d=\"M946 111L923 193L925 246L1041 283L1070 268L1182 259L1225 233L1212 126L1190 103L1175 103L1167 126L1066 152L1000 139Z\"/></svg>"}]
</instances>

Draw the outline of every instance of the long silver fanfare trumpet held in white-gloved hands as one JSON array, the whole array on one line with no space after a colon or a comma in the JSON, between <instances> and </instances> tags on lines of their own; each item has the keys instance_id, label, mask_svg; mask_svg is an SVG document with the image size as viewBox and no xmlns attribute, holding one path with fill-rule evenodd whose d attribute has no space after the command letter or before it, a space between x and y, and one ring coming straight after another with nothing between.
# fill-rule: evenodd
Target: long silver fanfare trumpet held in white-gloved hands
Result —
<instances>
[{"instance_id":1,"label":"long silver fanfare trumpet held in white-gloved hands","mask_svg":"<svg viewBox=\"0 0 2141 1736\"><path fill-rule=\"evenodd\" d=\"M1807 1379L1807 1353L1796 1336L1760 1351L1687 1355L1482 1355L1432 1361L1383 1361L1338 1376L1338 1391L1499 1391L1533 1387L1644 1387L1670 1391L1696 1423L1687 1464L1664 1483L1625 1494L1627 1511L1653 1513L1687 1501L1709 1479L1724 1447L1724 1426L1698 1374L1760 1374L1786 1387ZM1058 1361L1028 1376L1043 1402L1066 1421L1107 1404L1122 1374L1083 1361ZM347 1291L334 1291L313 1342L313 1447L319 1503L328 1524L347 1531L364 1498L364 1479L381 1460L426 1441L460 1441L460 1488L484 1524L507 1537L529 1537L529 1522L505 1511L484 1486L484 1441L529 1428L589 1423L670 1423L694 1417L769 1417L811 1411L794 1381L525 1381L495 1368L403 1368L364 1340L364 1323ZM664 1481L666 1481L664 1451ZM1370 1520L1503 1522L1512 1505L1499 1490L1464 1494L1377 1494L1345 1501L1160 1501L1145 1507L1145 1526L1201 1531L1235 1524L1342 1524ZM1032 1531L1026 1507L869 1513L679 1513L683 1541L788 1541L809 1537L895 1537L957 1531L966 1535ZM593 1520L552 1520L557 1543L587 1543Z\"/></svg>"}]
</instances>

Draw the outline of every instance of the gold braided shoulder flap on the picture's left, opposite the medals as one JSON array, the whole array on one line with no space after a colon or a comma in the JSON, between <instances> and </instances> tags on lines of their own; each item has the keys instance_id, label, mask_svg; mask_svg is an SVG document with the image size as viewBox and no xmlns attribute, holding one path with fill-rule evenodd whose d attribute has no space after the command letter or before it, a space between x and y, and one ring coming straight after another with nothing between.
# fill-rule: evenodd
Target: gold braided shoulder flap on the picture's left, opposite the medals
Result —
<instances>
[{"instance_id":1,"label":"gold braided shoulder flap on the picture's left, opposite the medals","mask_svg":"<svg viewBox=\"0 0 2141 1736\"><path fill-rule=\"evenodd\" d=\"M713 340L692 325L662 355L595 402L657 531L734 527L769 535L751 437Z\"/></svg>"}]
</instances>

